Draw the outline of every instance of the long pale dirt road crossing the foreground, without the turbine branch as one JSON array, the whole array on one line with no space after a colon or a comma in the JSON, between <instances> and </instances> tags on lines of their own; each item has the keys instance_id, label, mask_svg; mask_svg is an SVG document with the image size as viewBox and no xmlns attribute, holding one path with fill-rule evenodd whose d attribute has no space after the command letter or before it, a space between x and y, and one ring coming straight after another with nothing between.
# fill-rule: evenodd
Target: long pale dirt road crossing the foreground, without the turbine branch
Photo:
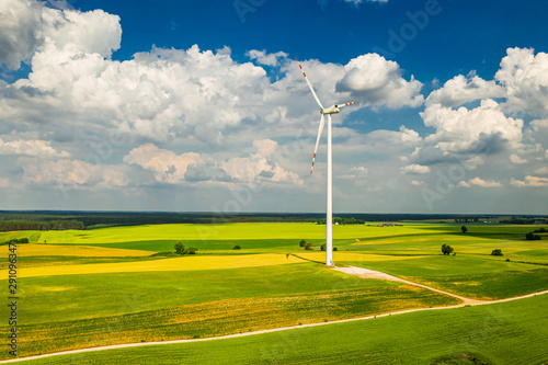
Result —
<instances>
[{"instance_id":1,"label":"long pale dirt road crossing the foreground, without the turbine branch","mask_svg":"<svg viewBox=\"0 0 548 365\"><path fill-rule=\"evenodd\" d=\"M436 292L438 292L438 290L436 290ZM520 297L513 297L513 298L506 298L506 299L498 299L498 300L489 300L489 301L488 300L475 300L476 304L465 304L465 303L461 303L461 304L458 304L458 305L446 306L446 307L404 309L404 310L399 310L399 311L393 311L393 312L387 312L387 313L380 313L380 315L370 315L370 316L366 316L366 317L340 319L340 320L329 321L329 322L318 322L318 323L308 323L308 324L300 324L300 326L281 327L281 328L274 328L274 329L267 329L267 330L260 330L260 331L253 331L253 332L227 334L227 335L221 335L221 337L216 337L216 338L171 340L171 341L153 341L153 342L135 342L135 343L124 343L124 344L117 344L117 345L88 347L88 349L79 349L79 350L69 350L69 351L61 351L61 352L56 352L56 353L50 353L50 354L44 354L44 355L35 355L35 356L21 357L21 358L2 360L2 361L0 361L0 364L19 363L19 362L25 362L25 361L31 361L31 360L47 358L47 357L53 357L53 356L72 355L72 354L81 354L81 353L87 353L87 352L96 352L96 351L106 351L106 350L116 350L116 349L151 346L151 345L165 345L165 344L179 344L179 343L193 343L193 342L205 342L205 341L216 341L216 340L227 340L227 339L246 338L246 337L256 335L256 334L273 333L273 332L279 332L279 331L288 331L288 330L296 330L296 329L318 327L318 326L328 326L328 324L336 324L336 323L355 322L355 321L361 321L361 320L366 320L366 319L375 319L375 318L383 318L383 317L389 317L389 316L396 316L396 315L404 315L404 313L411 313L411 312L416 312L416 311L443 310L443 309L463 308L463 307L466 307L466 306L491 305L491 304L498 304L498 303L505 303L505 301L513 301L513 300L518 300L518 299L530 298L530 297L535 297L537 295L545 295L545 294L548 294L548 290L532 293L532 294L523 295L523 296L520 296Z\"/></svg>"}]
</instances>

